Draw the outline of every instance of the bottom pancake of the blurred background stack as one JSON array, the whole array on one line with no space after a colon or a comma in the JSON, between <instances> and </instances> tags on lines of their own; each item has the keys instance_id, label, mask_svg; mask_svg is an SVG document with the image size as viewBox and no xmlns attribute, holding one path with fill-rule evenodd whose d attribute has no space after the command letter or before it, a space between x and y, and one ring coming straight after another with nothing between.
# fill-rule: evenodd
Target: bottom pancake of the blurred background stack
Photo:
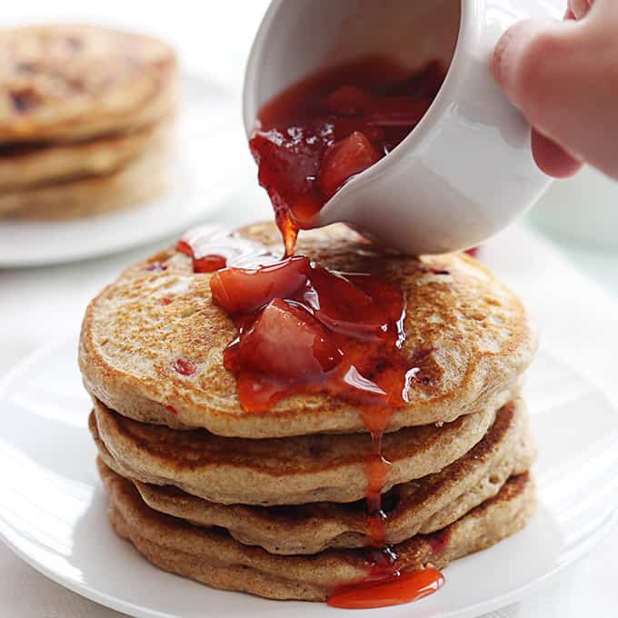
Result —
<instances>
[{"instance_id":1,"label":"bottom pancake of the blurred background stack","mask_svg":"<svg viewBox=\"0 0 618 618\"><path fill-rule=\"evenodd\" d=\"M145 202L167 188L163 149L142 154L119 170L0 194L0 216L56 220L94 216Z\"/></svg>"}]
</instances>

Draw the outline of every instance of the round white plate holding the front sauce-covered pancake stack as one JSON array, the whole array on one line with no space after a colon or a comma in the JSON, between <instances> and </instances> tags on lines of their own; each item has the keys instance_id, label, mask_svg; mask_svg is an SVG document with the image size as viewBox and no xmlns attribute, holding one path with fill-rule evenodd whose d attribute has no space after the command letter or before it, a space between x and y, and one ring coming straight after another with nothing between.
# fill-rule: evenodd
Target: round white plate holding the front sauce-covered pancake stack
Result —
<instances>
[{"instance_id":1,"label":"round white plate holding the front sauce-covered pancake stack","mask_svg":"<svg viewBox=\"0 0 618 618\"><path fill-rule=\"evenodd\" d=\"M213 590L164 573L112 532L86 429L89 400L71 340L45 348L0 383L0 536L55 582L139 617L254 618L344 613ZM526 388L540 457L539 509L521 533L445 570L444 588L372 615L463 618L529 595L589 551L615 520L618 415L581 375L550 354ZM349 615L349 614L348 614Z\"/></svg>"}]
</instances>

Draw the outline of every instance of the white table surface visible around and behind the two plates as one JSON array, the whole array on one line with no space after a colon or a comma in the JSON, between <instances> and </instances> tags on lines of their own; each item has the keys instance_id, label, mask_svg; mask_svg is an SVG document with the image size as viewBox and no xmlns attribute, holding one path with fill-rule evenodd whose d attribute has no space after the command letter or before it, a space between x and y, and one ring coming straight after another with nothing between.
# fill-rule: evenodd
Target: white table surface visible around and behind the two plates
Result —
<instances>
[{"instance_id":1,"label":"white table surface visible around and behind the two plates","mask_svg":"<svg viewBox=\"0 0 618 618\"><path fill-rule=\"evenodd\" d=\"M184 65L192 70L238 85L265 4L264 0L227 0L223 4L203 1L197 9L197 3L186 0L164 7L116 0L96 6L75 0L45 5L22 0L8 8L3 6L3 16L5 24L71 18L148 29L172 40ZM244 162L243 173L254 174L254 170ZM240 224L268 216L264 195L255 188L210 220ZM0 270L0 375L39 345L75 333L88 300L126 264L164 244L79 264ZM574 246L558 250L519 224L488 244L482 259L523 296L553 353L600 384L618 404L618 253ZM617 554L618 529L540 593L489 615L579 618L588 614L613 618L618 613L614 593ZM482 581L483 573L479 578ZM0 544L0 618L120 615L46 580Z\"/></svg>"}]
</instances>

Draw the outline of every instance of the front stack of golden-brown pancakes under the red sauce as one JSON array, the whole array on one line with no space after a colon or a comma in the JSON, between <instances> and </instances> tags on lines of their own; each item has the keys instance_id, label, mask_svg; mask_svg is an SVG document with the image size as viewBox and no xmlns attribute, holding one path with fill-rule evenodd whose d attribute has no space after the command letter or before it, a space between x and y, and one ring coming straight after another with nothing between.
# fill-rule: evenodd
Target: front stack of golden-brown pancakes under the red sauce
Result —
<instances>
[{"instance_id":1,"label":"front stack of golden-brown pancakes under the red sauce","mask_svg":"<svg viewBox=\"0 0 618 618\"><path fill-rule=\"evenodd\" d=\"M274 224L239 235L281 250ZM406 294L403 349L422 360L383 439L397 567L442 568L520 530L535 503L518 396L535 337L519 300L468 256L383 254L344 226L305 233L298 252L337 271L378 271ZM358 409L325 394L244 412L222 360L236 328L213 304L210 277L165 251L87 309L79 360L111 521L164 570L324 600L375 561L371 437Z\"/></svg>"}]
</instances>

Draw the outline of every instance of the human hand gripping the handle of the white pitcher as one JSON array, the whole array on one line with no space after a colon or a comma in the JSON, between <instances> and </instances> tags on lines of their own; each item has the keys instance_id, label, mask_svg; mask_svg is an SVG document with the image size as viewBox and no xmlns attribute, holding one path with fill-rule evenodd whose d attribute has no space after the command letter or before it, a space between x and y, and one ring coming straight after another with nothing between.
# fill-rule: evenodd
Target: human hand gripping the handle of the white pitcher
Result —
<instances>
[{"instance_id":1,"label":"human hand gripping the handle of the white pitcher","mask_svg":"<svg viewBox=\"0 0 618 618\"><path fill-rule=\"evenodd\" d=\"M566 20L526 20L496 45L493 75L533 125L536 164L618 179L618 2L569 0Z\"/></svg>"}]
</instances>

